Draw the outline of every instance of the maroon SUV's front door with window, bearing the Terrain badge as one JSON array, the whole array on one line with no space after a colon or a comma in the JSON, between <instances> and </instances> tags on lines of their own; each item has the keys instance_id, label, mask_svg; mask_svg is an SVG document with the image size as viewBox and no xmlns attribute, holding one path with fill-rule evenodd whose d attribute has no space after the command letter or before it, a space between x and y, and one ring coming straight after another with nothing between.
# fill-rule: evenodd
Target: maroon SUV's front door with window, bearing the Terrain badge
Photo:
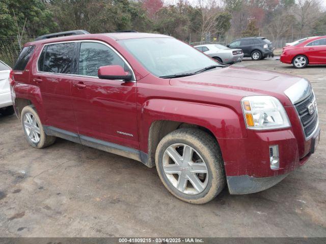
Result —
<instances>
[{"instance_id":1,"label":"maroon SUV's front door with window, bearing the Terrain badge","mask_svg":"<svg viewBox=\"0 0 326 244\"><path fill-rule=\"evenodd\" d=\"M130 67L113 48L92 41L80 43L77 63L72 97L82 143L98 139L138 149L136 83L97 76L101 66Z\"/></svg>"}]
</instances>

